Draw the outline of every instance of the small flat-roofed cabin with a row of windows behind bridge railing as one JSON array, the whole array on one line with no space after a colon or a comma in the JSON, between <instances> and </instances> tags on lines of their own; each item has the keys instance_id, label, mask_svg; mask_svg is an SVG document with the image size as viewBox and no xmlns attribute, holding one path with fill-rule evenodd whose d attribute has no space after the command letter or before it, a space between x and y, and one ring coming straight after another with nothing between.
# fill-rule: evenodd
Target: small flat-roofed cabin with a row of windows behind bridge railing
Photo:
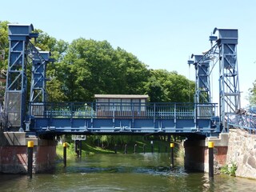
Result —
<instances>
[{"instance_id":1,"label":"small flat-roofed cabin with a row of windows behind bridge railing","mask_svg":"<svg viewBox=\"0 0 256 192\"><path fill-rule=\"evenodd\" d=\"M142 94L95 94L98 117L143 117L146 116L148 95Z\"/></svg>"}]
</instances>

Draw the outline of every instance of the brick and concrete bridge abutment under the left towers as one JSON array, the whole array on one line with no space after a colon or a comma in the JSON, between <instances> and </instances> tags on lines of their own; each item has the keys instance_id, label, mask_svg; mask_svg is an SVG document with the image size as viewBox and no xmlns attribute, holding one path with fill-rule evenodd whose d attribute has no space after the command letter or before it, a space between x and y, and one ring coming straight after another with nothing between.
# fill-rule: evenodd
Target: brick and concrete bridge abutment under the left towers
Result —
<instances>
[{"instance_id":1,"label":"brick and concrete bridge abutment under the left towers","mask_svg":"<svg viewBox=\"0 0 256 192\"><path fill-rule=\"evenodd\" d=\"M27 142L34 141L33 172L53 170L56 158L54 139L26 138L26 133L0 133L0 173L27 173Z\"/></svg>"}]
</instances>

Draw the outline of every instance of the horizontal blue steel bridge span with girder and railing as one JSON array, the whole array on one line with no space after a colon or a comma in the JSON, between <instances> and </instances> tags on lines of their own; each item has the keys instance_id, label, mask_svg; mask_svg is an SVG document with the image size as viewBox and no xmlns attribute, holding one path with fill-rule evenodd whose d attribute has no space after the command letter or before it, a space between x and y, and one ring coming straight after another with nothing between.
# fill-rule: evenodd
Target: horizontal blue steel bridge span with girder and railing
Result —
<instances>
[{"instance_id":1,"label":"horizontal blue steel bridge span with girder and railing","mask_svg":"<svg viewBox=\"0 0 256 192\"><path fill-rule=\"evenodd\" d=\"M214 103L30 102L26 130L38 134L218 133ZM198 113L197 111L200 111Z\"/></svg>"}]
</instances>

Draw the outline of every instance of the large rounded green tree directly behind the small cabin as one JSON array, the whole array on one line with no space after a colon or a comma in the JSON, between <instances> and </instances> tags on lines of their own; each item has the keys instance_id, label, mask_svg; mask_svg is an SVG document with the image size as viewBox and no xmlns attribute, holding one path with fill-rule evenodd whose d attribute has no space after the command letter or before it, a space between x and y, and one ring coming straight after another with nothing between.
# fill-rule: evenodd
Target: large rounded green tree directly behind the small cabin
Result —
<instances>
[{"instance_id":1,"label":"large rounded green tree directly behind the small cabin","mask_svg":"<svg viewBox=\"0 0 256 192\"><path fill-rule=\"evenodd\" d=\"M68 101L92 101L94 94L143 94L149 70L133 54L109 42L78 38L64 56L59 80Z\"/></svg>"}]
</instances>

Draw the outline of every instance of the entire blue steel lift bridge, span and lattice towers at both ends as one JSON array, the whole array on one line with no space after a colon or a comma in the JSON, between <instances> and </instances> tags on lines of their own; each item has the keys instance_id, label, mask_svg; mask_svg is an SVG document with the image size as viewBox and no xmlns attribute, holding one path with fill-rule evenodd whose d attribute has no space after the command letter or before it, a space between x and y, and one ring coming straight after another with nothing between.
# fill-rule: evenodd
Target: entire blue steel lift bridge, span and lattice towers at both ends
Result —
<instances>
[{"instance_id":1,"label":"entire blue steel lift bridge, span and lattice towers at both ends","mask_svg":"<svg viewBox=\"0 0 256 192\"><path fill-rule=\"evenodd\" d=\"M236 46L238 30L214 29L215 42L202 55L192 55L196 91L193 103L47 102L46 66L50 52L34 46L33 25L9 24L10 50L4 101L6 131L45 134L200 134L226 131L227 114L240 108ZM212 43L213 44L213 43ZM210 73L219 63L219 114L212 103ZM31 82L28 85L27 68ZM26 102L30 86L30 100Z\"/></svg>"}]
</instances>

